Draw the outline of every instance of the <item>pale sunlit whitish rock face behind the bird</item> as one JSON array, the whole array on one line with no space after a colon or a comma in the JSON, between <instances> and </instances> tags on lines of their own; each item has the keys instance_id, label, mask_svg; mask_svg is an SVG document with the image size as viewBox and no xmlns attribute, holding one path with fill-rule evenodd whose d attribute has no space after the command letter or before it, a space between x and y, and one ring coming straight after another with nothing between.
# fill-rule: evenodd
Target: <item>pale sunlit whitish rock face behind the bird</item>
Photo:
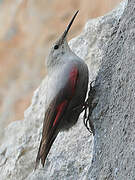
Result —
<instances>
[{"instance_id":1,"label":"pale sunlit whitish rock face behind the bird","mask_svg":"<svg viewBox=\"0 0 135 180\"><path fill-rule=\"evenodd\" d=\"M121 3L117 9L108 15L90 20L81 35L70 42L73 51L88 64L90 80L97 76L103 57L104 48L102 46L111 38L110 30L114 24L118 23L126 2ZM46 160L45 168L39 167L33 172L44 111L47 106L46 81L48 78L46 77L35 91L32 104L25 112L24 120L11 123L5 130L3 144L0 147L0 175L2 180L89 179L93 137L83 126L82 117L70 131L61 132L58 135ZM95 110L95 114L98 114L98 110ZM98 123L96 124L98 129L97 126ZM96 131L95 146L98 142L97 134ZM98 145L97 149L94 150L94 153L96 152L98 152ZM93 166L96 163L100 163L102 166L102 162L100 160L98 162L97 158L93 163ZM99 167L101 167L100 165ZM95 172L92 171L92 177L94 177ZM117 171L115 172L117 173Z\"/></svg>"}]
</instances>

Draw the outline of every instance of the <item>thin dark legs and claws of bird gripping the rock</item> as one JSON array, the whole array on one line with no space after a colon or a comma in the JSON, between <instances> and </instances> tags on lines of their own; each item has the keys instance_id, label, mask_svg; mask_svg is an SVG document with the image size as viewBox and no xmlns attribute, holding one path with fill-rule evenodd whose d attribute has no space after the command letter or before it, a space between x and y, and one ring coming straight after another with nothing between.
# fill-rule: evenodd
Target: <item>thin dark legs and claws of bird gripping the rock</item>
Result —
<instances>
[{"instance_id":1,"label":"thin dark legs and claws of bird gripping the rock","mask_svg":"<svg viewBox=\"0 0 135 180\"><path fill-rule=\"evenodd\" d=\"M95 91L95 88L92 86L93 82L94 81L92 81L90 83L90 90L88 93L88 98L85 101L85 104L84 104L84 107L82 110L83 111L85 110L84 116L83 116L83 122L84 122L85 127L88 129L88 131L90 133L93 133L93 135L95 135L94 125L93 125L92 121L90 120L90 116L91 116L92 111L95 107L95 104L93 104L93 99L94 99L96 91ZM88 125L88 122L89 122L89 125Z\"/></svg>"}]
</instances>

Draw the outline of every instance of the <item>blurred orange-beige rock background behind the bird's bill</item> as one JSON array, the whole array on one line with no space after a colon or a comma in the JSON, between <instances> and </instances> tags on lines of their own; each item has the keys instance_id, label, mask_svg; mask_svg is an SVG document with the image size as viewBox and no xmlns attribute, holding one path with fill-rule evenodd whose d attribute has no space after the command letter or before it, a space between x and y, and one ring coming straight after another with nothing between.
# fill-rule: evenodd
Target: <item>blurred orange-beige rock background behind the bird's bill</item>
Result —
<instances>
[{"instance_id":1,"label":"blurred orange-beige rock background behind the bird's bill","mask_svg":"<svg viewBox=\"0 0 135 180\"><path fill-rule=\"evenodd\" d=\"M76 10L69 39L120 0L0 0L0 127L23 119L45 71L48 48Z\"/></svg>"}]
</instances>

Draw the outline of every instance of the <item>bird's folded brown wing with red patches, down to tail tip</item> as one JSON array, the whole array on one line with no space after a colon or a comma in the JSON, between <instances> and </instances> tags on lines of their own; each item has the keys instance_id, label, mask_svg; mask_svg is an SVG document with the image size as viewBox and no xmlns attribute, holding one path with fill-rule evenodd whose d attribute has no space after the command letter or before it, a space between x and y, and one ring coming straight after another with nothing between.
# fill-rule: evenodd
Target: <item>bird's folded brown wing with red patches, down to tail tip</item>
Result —
<instances>
[{"instance_id":1,"label":"bird's folded brown wing with red patches, down to tail tip","mask_svg":"<svg viewBox=\"0 0 135 180\"><path fill-rule=\"evenodd\" d=\"M44 166L45 159L59 132L59 123L64 115L64 112L66 111L66 108L72 100L72 97L74 96L78 76L79 71L77 67L72 67L69 71L67 82L52 100L45 113L42 139L36 159L36 167L40 160Z\"/></svg>"}]
</instances>

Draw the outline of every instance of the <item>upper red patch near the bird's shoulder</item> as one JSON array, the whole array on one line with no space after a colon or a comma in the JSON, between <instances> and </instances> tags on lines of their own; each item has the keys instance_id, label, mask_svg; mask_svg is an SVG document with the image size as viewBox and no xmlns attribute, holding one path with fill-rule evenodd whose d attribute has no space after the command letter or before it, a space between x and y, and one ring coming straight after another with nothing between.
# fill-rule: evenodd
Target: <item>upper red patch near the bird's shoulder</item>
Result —
<instances>
[{"instance_id":1,"label":"upper red patch near the bird's shoulder","mask_svg":"<svg viewBox=\"0 0 135 180\"><path fill-rule=\"evenodd\" d=\"M70 72L70 77L69 77L70 83L71 83L71 88L72 88L72 95L75 92L77 76L78 76L78 69L77 69L77 67L73 67L71 72Z\"/></svg>"}]
</instances>

